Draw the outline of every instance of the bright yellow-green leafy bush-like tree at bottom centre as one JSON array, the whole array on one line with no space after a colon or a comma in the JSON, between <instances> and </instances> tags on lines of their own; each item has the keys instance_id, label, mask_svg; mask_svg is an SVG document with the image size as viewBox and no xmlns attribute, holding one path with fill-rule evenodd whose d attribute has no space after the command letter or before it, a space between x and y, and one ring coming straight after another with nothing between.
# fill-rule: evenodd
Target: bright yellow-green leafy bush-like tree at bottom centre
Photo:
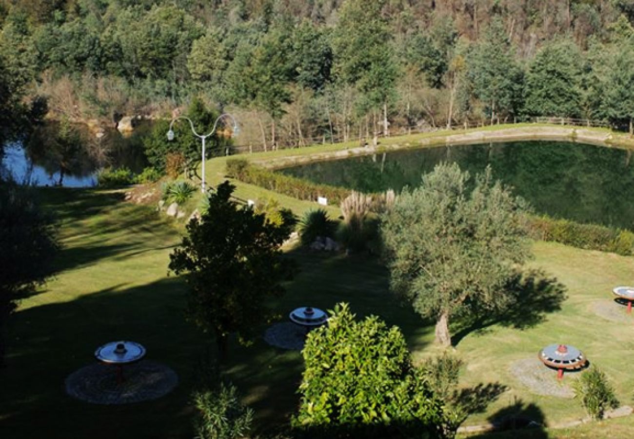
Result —
<instances>
[{"instance_id":1,"label":"bright yellow-green leafy bush-like tree at bottom centre","mask_svg":"<svg viewBox=\"0 0 634 439\"><path fill-rule=\"evenodd\" d=\"M443 402L413 366L403 333L354 317L343 303L309 332L295 427L313 437L443 437Z\"/></svg>"}]
</instances>

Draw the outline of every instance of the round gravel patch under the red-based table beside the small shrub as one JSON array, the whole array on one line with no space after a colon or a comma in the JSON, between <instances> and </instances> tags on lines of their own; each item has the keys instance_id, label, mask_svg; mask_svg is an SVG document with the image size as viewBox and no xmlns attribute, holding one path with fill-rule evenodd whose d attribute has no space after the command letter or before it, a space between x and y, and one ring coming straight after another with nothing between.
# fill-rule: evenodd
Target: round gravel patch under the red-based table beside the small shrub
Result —
<instances>
[{"instance_id":1,"label":"round gravel patch under the red-based table beside the small shrub","mask_svg":"<svg viewBox=\"0 0 634 439\"><path fill-rule=\"evenodd\" d=\"M513 362L510 372L515 379L533 393L559 398L573 398L574 391L566 383L576 372L564 372L564 378L557 379L557 370L545 366L538 358L524 358Z\"/></svg>"}]
</instances>

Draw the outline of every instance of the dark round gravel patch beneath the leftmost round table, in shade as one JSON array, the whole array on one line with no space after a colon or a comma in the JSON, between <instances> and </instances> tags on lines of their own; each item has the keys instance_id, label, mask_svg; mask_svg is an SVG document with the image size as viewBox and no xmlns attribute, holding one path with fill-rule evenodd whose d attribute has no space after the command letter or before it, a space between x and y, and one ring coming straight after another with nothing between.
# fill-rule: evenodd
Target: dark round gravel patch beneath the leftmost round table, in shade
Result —
<instances>
[{"instance_id":1,"label":"dark round gravel patch beneath the leftmost round table, in shade","mask_svg":"<svg viewBox=\"0 0 634 439\"><path fill-rule=\"evenodd\" d=\"M123 373L123 383L117 383L117 367L91 364L68 376L66 392L85 402L116 405L160 398L178 384L174 370L147 360L124 366Z\"/></svg>"}]
</instances>

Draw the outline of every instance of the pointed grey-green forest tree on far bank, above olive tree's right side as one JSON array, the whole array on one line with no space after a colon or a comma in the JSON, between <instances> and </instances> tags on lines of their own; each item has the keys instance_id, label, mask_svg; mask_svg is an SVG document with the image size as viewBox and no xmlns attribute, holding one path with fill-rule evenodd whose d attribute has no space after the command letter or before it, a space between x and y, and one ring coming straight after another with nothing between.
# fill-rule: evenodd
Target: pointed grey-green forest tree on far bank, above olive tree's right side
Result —
<instances>
[{"instance_id":1,"label":"pointed grey-green forest tree on far bank, above olive tree's right side","mask_svg":"<svg viewBox=\"0 0 634 439\"><path fill-rule=\"evenodd\" d=\"M522 70L515 62L511 45L499 19L494 19L467 59L475 97L491 114L517 114L521 103Z\"/></svg>"}]
</instances>

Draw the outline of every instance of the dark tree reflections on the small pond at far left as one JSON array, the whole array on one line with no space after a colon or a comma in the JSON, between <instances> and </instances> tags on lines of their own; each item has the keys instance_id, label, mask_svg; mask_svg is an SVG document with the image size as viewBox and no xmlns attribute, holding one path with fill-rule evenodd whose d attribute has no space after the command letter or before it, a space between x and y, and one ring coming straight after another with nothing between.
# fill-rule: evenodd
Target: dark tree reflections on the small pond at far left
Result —
<instances>
[{"instance_id":1,"label":"dark tree reflections on the small pond at far left","mask_svg":"<svg viewBox=\"0 0 634 439\"><path fill-rule=\"evenodd\" d=\"M96 138L86 127L69 122L47 122L37 127L24 148L32 164L44 168L49 178L62 185L65 176L84 178L106 166L125 166L140 172L146 166L141 145L144 129L129 138L111 130Z\"/></svg>"}]
</instances>

